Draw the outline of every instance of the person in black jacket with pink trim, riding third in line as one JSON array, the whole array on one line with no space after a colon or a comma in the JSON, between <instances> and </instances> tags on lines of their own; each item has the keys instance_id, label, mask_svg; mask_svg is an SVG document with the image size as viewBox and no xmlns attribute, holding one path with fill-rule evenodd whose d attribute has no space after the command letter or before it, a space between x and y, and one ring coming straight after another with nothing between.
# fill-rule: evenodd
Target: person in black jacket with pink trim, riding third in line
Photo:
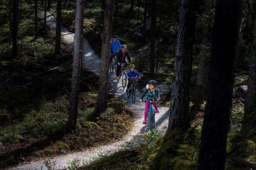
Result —
<instances>
[{"instance_id":1,"label":"person in black jacket with pink trim, riding third in line","mask_svg":"<svg viewBox=\"0 0 256 170\"><path fill-rule=\"evenodd\" d=\"M117 80L119 79L119 73L121 68L121 63L124 63L125 68L127 67L128 63L126 62L125 58L127 57L129 63L131 63L131 58L129 52L126 50L126 45L123 44L122 50L119 50L117 53Z\"/></svg>"}]
</instances>

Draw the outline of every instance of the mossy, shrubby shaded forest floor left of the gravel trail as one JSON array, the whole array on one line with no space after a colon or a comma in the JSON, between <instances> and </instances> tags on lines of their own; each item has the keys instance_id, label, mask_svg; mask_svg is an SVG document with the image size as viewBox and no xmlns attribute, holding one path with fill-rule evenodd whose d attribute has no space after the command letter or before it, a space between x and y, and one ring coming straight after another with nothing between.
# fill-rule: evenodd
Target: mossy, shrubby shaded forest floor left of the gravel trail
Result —
<instances>
[{"instance_id":1,"label":"mossy, shrubby shaded forest floor left of the gravel trail","mask_svg":"<svg viewBox=\"0 0 256 170\"><path fill-rule=\"evenodd\" d=\"M18 34L18 56L11 58L8 24L1 37L0 168L45 156L97 147L122 138L133 127L133 111L109 93L106 112L96 117L98 77L82 70L77 130L67 133L72 76L71 49L54 54L55 32L34 38L34 13L24 4ZM61 151L64 150L64 151Z\"/></svg>"}]
</instances>

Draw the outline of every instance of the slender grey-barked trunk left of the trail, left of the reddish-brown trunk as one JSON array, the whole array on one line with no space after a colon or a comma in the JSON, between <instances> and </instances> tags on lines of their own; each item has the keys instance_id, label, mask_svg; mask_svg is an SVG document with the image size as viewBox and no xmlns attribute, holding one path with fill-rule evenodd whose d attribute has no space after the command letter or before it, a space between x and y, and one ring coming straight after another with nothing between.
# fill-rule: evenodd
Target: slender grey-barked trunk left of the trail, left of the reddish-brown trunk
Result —
<instances>
[{"instance_id":1,"label":"slender grey-barked trunk left of the trail, left of the reddish-brown trunk","mask_svg":"<svg viewBox=\"0 0 256 170\"><path fill-rule=\"evenodd\" d=\"M76 25L74 36L74 58L71 84L71 99L68 118L68 128L76 129L77 123L77 106L79 92L79 77L81 69L82 56L82 27L83 27L83 0L76 1Z\"/></svg>"}]
</instances>

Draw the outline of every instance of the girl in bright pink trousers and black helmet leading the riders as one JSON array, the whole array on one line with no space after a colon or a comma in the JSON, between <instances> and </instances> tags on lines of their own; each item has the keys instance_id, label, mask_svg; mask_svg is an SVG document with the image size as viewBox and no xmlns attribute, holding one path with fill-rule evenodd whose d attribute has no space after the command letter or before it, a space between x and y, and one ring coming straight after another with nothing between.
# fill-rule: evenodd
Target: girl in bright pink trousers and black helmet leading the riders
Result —
<instances>
[{"instance_id":1,"label":"girl in bright pink trousers and black helmet leading the riders","mask_svg":"<svg viewBox=\"0 0 256 170\"><path fill-rule=\"evenodd\" d=\"M142 102L143 97L146 96L144 121L142 122L142 124L146 124L146 122L147 122L147 112L149 111L149 102L148 101L152 100L152 104L155 107L156 112L159 113L159 110L157 109L157 103L154 102L155 100L157 100L157 101L160 100L160 95L158 93L156 85L157 85L157 82L155 80L150 80L146 86L146 90L145 90L144 94L142 94L141 99L139 100L140 102Z\"/></svg>"}]
</instances>

